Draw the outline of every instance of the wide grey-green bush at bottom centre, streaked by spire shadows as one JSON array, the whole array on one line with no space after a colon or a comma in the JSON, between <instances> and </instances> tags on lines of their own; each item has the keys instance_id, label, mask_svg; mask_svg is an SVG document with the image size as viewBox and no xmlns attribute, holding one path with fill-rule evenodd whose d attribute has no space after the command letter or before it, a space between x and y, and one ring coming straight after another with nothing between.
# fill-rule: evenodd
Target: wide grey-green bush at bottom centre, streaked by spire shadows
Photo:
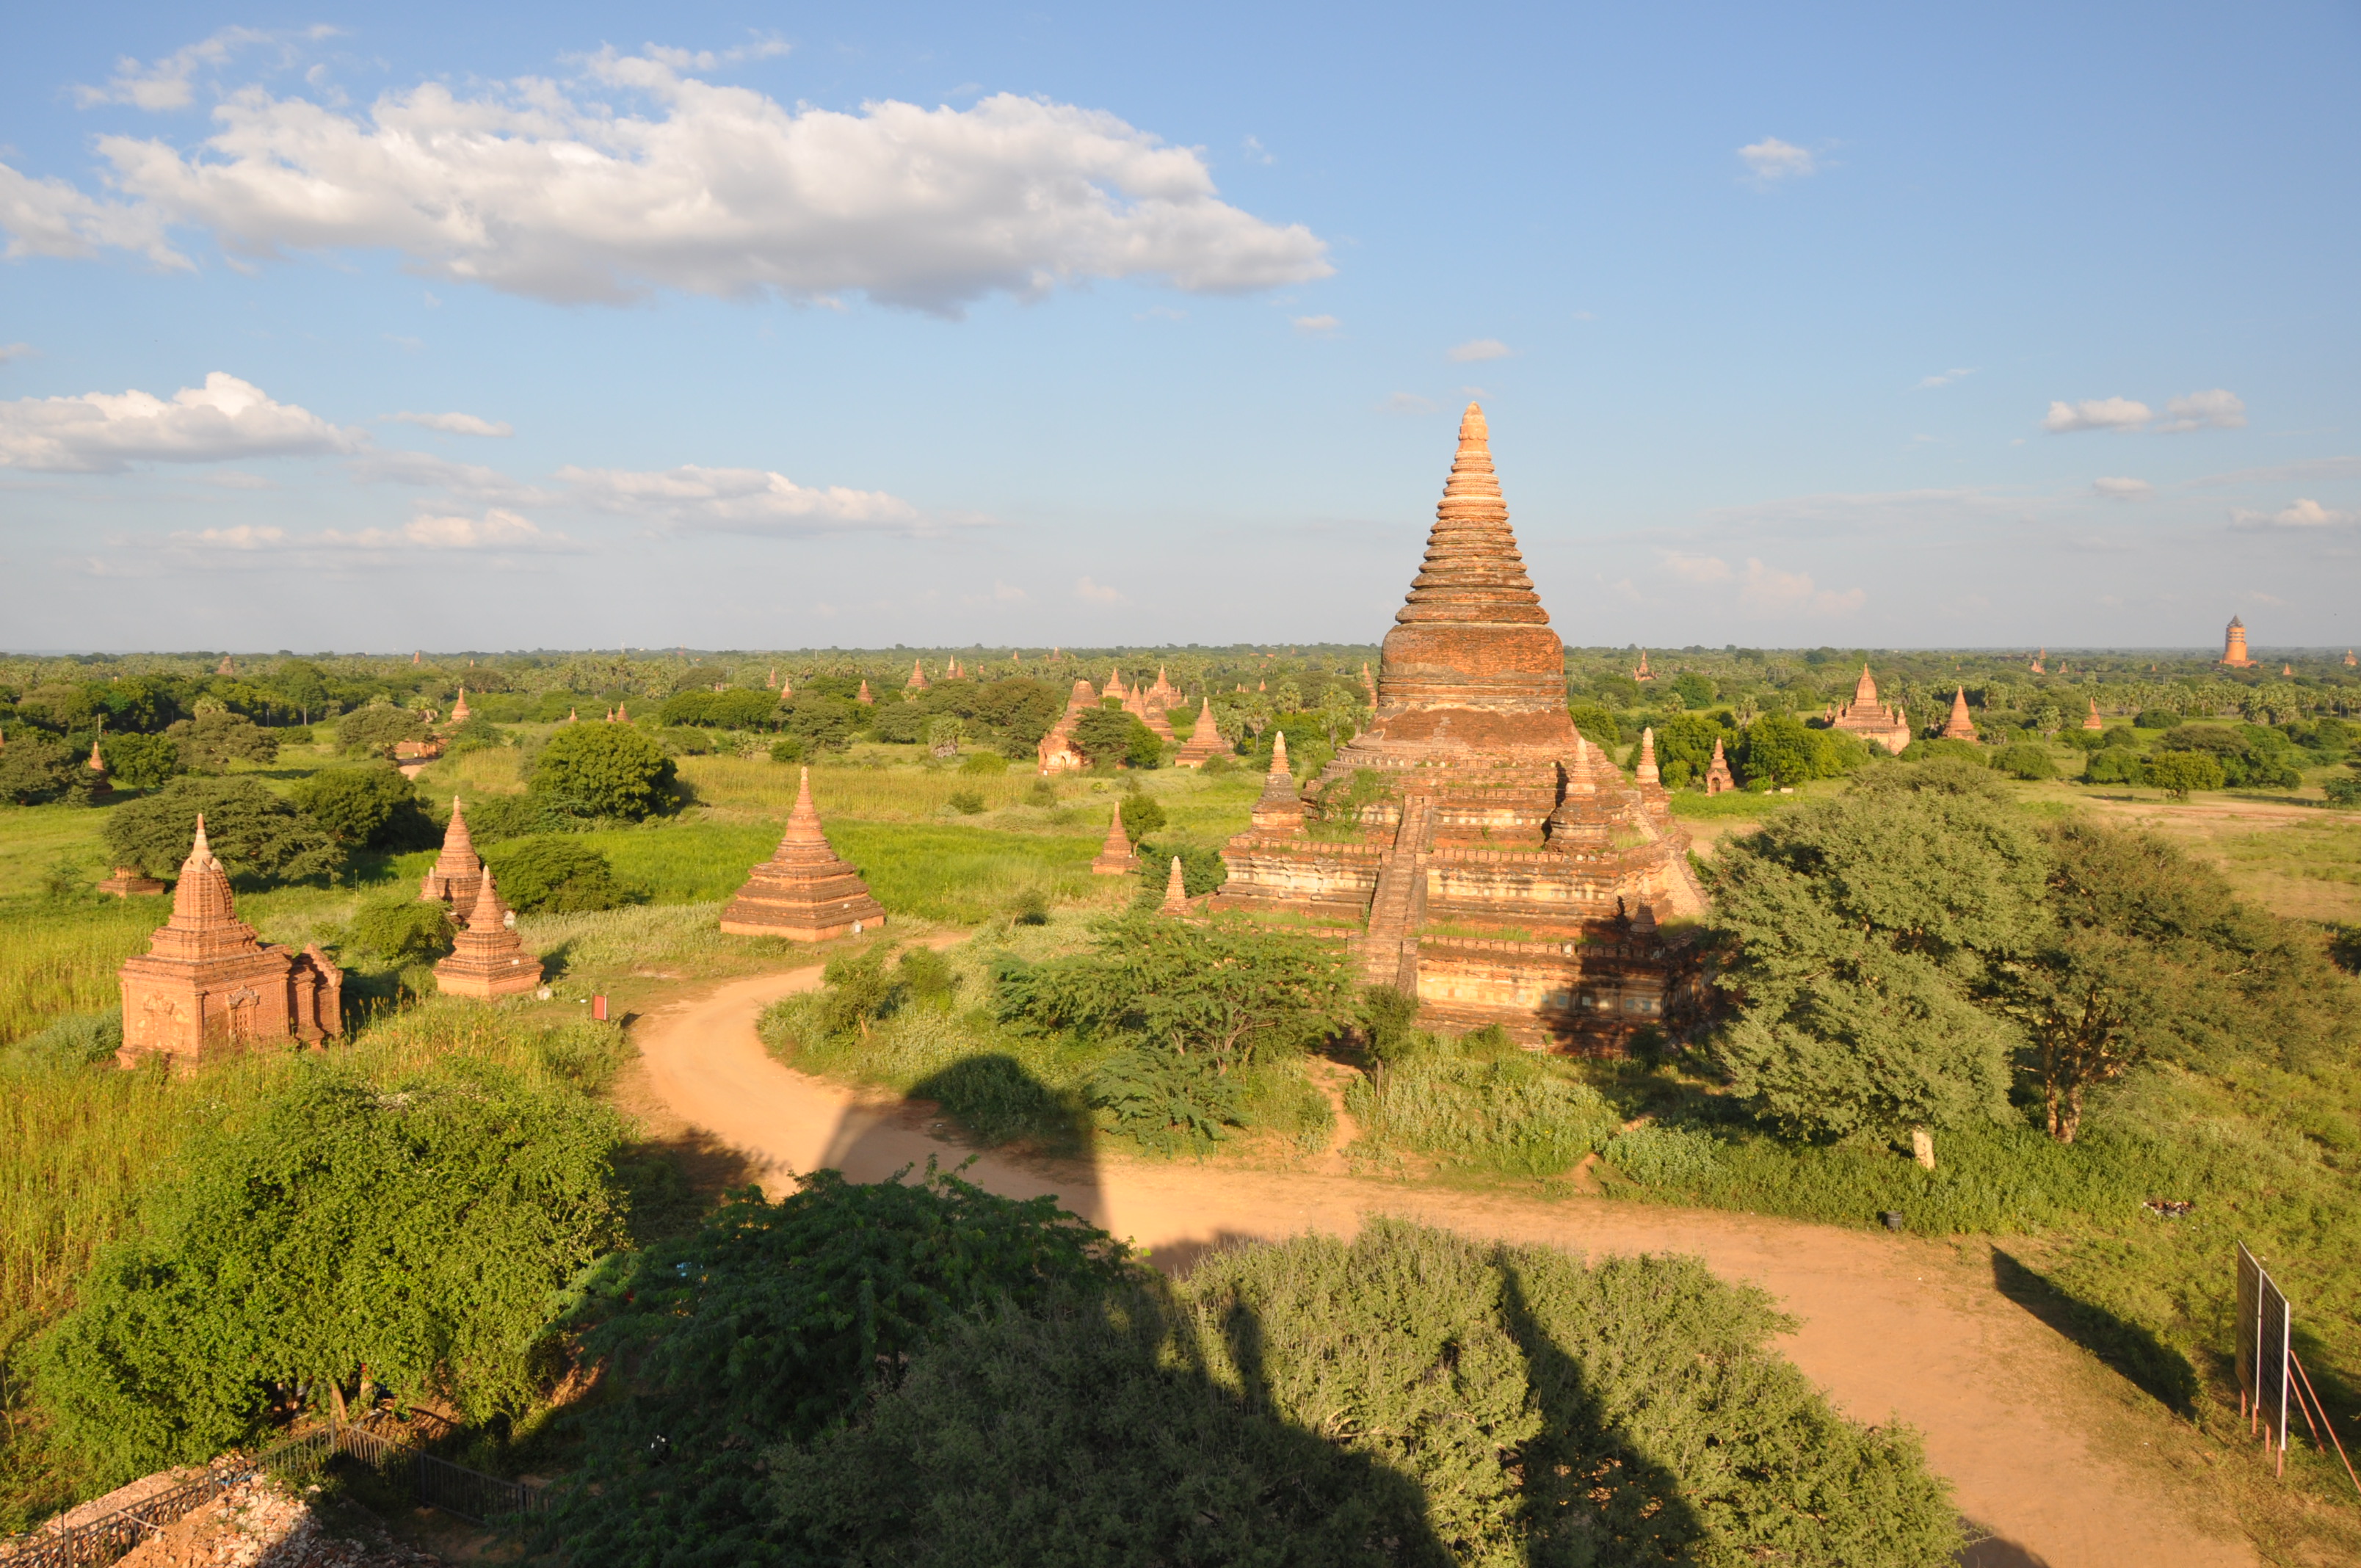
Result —
<instances>
[{"instance_id":1,"label":"wide grey-green bush at bottom centre, streaked by spire shadows","mask_svg":"<svg viewBox=\"0 0 2361 1568\"><path fill-rule=\"evenodd\" d=\"M1943 1561L1917 1438L1832 1412L1768 1351L1785 1325L1690 1259L1400 1221L1235 1247L947 1325L770 1455L774 1561Z\"/></svg>"}]
</instances>

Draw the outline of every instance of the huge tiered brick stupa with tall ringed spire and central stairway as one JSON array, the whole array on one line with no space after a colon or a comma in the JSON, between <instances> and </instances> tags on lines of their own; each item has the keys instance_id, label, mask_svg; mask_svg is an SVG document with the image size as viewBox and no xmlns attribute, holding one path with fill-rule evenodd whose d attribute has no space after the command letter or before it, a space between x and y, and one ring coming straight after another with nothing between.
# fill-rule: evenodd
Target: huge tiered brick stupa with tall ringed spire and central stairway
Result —
<instances>
[{"instance_id":1,"label":"huge tiered brick stupa with tall ringed spire and central stairway","mask_svg":"<svg viewBox=\"0 0 2361 1568\"><path fill-rule=\"evenodd\" d=\"M1355 942L1433 1027L1615 1051L1662 1020L1667 921L1702 914L1660 784L1565 713L1565 647L1509 529L1469 404L1426 562L1386 635L1376 716L1296 798L1273 760L1223 848L1214 909L1296 914Z\"/></svg>"}]
</instances>

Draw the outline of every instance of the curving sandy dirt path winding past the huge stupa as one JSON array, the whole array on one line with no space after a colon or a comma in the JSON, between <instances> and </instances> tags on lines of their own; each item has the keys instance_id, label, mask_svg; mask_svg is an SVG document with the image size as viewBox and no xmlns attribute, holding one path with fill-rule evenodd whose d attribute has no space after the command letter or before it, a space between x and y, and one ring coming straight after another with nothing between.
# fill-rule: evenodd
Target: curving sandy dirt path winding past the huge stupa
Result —
<instances>
[{"instance_id":1,"label":"curving sandy dirt path winding past the huge stupa","mask_svg":"<svg viewBox=\"0 0 2361 1568\"><path fill-rule=\"evenodd\" d=\"M819 1167L878 1181L928 1155L947 1167L966 1159L968 1150L930 1138L897 1105L791 1072L763 1051L753 1030L763 1006L817 982L817 966L758 975L645 1018L635 1037L649 1089L682 1122L739 1152L772 1190ZM2068 1393L2080 1386L2075 1351L1995 1289L1964 1280L1934 1242L1705 1209L1542 1204L1350 1176L1129 1159L1088 1169L985 1155L968 1178L1011 1197L1055 1193L1166 1266L1228 1237L1350 1235L1369 1214L1572 1252L1695 1254L1726 1278L1764 1285L1801 1320L1783 1348L1849 1415L1901 1417L1927 1433L1929 1459L1953 1481L1960 1511L1995 1535L1964 1561L2257 1561L2245 1540L2217 1537L2186 1516L2170 1476L2144 1476L2099 1452L2082 1429L2106 1412Z\"/></svg>"}]
</instances>

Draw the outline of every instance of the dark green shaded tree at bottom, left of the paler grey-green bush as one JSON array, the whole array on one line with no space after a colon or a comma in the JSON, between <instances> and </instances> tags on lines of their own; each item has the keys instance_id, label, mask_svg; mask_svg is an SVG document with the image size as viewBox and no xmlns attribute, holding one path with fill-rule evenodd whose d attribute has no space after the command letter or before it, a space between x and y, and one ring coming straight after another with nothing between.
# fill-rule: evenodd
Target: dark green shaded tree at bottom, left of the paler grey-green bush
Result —
<instances>
[{"instance_id":1,"label":"dark green shaded tree at bottom, left of the paler grey-green bush","mask_svg":"<svg viewBox=\"0 0 2361 1568\"><path fill-rule=\"evenodd\" d=\"M696 1235L593 1275L586 1348L616 1398L541 1540L578 1568L791 1561L765 1450L869 1407L937 1334L994 1308L1105 1289L1124 1247L1055 1200L994 1197L928 1169L852 1185L815 1171L784 1202L739 1193Z\"/></svg>"}]
</instances>

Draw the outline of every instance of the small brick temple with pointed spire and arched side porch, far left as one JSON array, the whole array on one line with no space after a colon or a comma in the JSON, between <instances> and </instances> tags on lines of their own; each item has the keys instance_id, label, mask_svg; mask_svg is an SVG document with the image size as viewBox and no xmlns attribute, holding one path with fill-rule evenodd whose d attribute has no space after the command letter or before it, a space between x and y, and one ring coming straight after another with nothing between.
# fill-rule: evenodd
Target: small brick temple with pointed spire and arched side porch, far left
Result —
<instances>
[{"instance_id":1,"label":"small brick temple with pointed spire and arched side porch, far left","mask_svg":"<svg viewBox=\"0 0 2361 1568\"><path fill-rule=\"evenodd\" d=\"M290 952L264 942L238 919L229 871L205 841L179 864L172 919L149 937L149 952L123 961L125 1067L146 1056L179 1067L260 1041L319 1041L345 1032L345 971L314 942Z\"/></svg>"}]
</instances>

